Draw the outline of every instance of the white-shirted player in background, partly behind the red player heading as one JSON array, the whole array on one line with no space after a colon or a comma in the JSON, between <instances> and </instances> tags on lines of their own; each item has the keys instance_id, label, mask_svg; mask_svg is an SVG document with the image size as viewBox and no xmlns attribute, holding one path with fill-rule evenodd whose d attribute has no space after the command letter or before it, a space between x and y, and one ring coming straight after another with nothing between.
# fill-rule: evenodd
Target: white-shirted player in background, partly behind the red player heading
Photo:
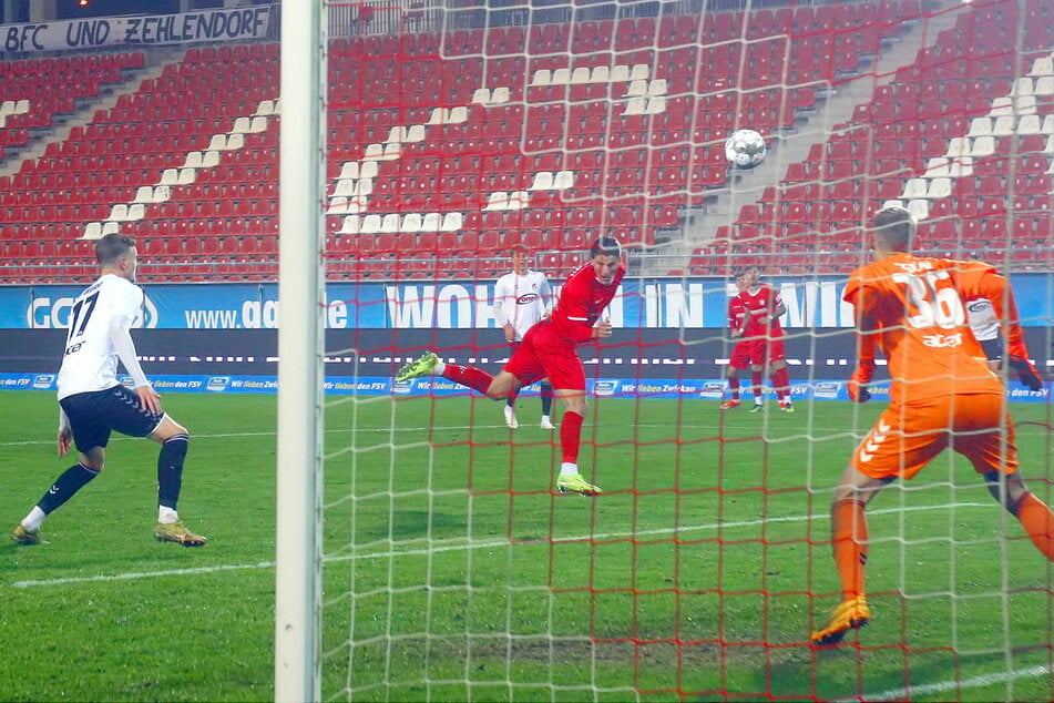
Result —
<instances>
[{"instance_id":1,"label":"white-shirted player in background, partly behind the red player heading","mask_svg":"<svg viewBox=\"0 0 1054 703\"><path fill-rule=\"evenodd\" d=\"M494 319L505 334L505 342L513 347L523 340L523 335L534 323L550 313L552 291L549 279L540 271L528 267L528 251L515 247L511 251L512 271L498 279L494 287ZM553 385L543 378L542 386L542 429L555 429L550 417L553 408ZM519 427L515 411L516 397L509 396L505 403L505 425L511 429Z\"/></svg>"}]
</instances>

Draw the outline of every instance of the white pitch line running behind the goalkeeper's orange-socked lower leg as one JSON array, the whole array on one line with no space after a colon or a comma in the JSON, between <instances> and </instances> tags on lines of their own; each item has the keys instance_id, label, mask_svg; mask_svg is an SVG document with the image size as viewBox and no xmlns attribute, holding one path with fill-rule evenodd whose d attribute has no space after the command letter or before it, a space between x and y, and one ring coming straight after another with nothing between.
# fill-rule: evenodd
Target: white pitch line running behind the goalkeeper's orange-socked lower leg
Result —
<instances>
[{"instance_id":1,"label":"white pitch line running behind the goalkeeper's orange-socked lower leg","mask_svg":"<svg viewBox=\"0 0 1054 703\"><path fill-rule=\"evenodd\" d=\"M918 510L940 510L940 509L951 509L951 508L990 508L995 507L996 503L955 503L953 506L941 506L934 508L933 506L918 506L918 507L905 507L905 508L886 508L883 510L872 510L868 514L878 516L878 514L889 514L889 513L899 513L899 512L913 512ZM348 554L344 557L335 557L326 559L326 563L339 563L344 561L359 561L365 559L388 559L391 557L419 557L424 554L439 554L443 552L451 551L464 551L464 550L475 550L475 549L498 549L501 547L519 547L525 544L539 544L543 542L552 543L566 543L566 542L583 542L590 540L610 540L618 538L630 538L630 537L641 537L641 536L655 536L655 534L671 534L673 532L695 532L698 530L716 530L718 528L737 528L737 527L751 527L756 524L763 524L767 522L805 522L808 520L827 520L829 516L826 513L818 513L815 516L788 516L781 518L766 518L763 520L738 520L735 522L710 522L708 524L695 524L686 526L681 528L659 528L655 530L638 530L636 532L608 532L604 534L585 534L579 537L554 537L552 539L538 539L538 540L521 540L521 541L510 541L508 539L502 540L491 540L488 542L470 542L461 544L441 544L438 547L428 547L423 549L400 549L400 550L388 550L388 551L377 551L368 552L365 554ZM453 540L451 540L453 541ZM133 572L133 573L115 573L115 574L99 574L92 577L70 577L63 579L41 579L41 580L31 580L31 581L12 581L9 585L12 588L31 588L38 585L65 585L69 583L90 583L98 581L130 581L134 579L152 579L160 577L170 577L170 575L195 575L203 573L215 573L217 571L241 571L249 569L270 569L274 568L275 562L273 561L262 561L255 564L225 564L216 567L199 567L195 569L173 569L168 571L144 571L144 572Z\"/></svg>"}]
</instances>

